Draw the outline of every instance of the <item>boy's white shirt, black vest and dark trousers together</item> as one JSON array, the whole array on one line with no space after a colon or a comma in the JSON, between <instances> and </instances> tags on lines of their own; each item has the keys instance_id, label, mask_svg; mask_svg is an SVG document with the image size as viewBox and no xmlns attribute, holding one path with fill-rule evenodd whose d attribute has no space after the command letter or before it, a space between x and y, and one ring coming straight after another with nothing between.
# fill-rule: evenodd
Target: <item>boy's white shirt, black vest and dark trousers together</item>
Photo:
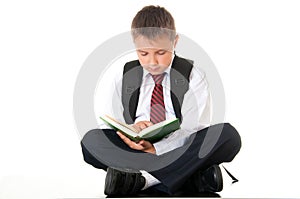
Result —
<instances>
[{"instance_id":1,"label":"boy's white shirt, black vest and dark trousers together","mask_svg":"<svg viewBox=\"0 0 300 199\"><path fill-rule=\"evenodd\" d=\"M230 162L241 147L236 129L229 123L210 126L210 93L205 74L189 60L173 56L162 80L165 118L179 118L181 128L153 143L156 154L129 148L104 123L81 141L84 159L96 168L132 168L147 171L161 183L152 187L174 193L197 171ZM125 64L114 77L111 98L103 112L133 124L150 121L151 94L155 82L137 60Z\"/></svg>"}]
</instances>

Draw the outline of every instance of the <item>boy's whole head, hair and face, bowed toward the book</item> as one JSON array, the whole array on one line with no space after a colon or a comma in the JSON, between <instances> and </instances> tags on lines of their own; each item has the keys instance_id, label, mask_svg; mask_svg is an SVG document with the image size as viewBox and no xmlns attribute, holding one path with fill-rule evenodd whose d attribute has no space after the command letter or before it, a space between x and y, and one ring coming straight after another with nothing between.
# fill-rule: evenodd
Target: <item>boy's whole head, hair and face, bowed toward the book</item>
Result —
<instances>
[{"instance_id":1,"label":"boy's whole head, hair and face, bowed toward the book","mask_svg":"<svg viewBox=\"0 0 300 199\"><path fill-rule=\"evenodd\" d=\"M172 15L163 7L146 6L134 17L131 33L141 65L153 75L163 73L178 40Z\"/></svg>"}]
</instances>

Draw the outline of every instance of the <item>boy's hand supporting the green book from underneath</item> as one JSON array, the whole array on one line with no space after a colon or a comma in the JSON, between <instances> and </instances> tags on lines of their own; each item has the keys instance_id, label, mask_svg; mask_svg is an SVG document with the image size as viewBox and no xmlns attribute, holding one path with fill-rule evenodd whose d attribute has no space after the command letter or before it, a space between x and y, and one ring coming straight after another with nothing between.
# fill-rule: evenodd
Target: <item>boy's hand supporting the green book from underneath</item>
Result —
<instances>
[{"instance_id":1,"label":"boy's hand supporting the green book from underneath","mask_svg":"<svg viewBox=\"0 0 300 199\"><path fill-rule=\"evenodd\" d=\"M155 148L153 144L146 140L141 140L138 143L130 140L128 137L123 135L121 132L117 131L117 134L120 136L120 138L132 149L144 151L147 153L156 154Z\"/></svg>"}]
</instances>

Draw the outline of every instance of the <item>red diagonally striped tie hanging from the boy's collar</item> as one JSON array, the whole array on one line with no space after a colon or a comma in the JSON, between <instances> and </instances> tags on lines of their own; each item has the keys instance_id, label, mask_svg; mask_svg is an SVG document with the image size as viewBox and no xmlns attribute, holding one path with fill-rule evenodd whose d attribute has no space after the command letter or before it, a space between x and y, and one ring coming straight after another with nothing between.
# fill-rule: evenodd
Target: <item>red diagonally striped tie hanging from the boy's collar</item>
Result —
<instances>
[{"instance_id":1,"label":"red diagonally striped tie hanging from the boy's collar","mask_svg":"<svg viewBox=\"0 0 300 199\"><path fill-rule=\"evenodd\" d=\"M152 78L155 82L155 86L152 91L152 97L151 97L150 121L153 124L166 120L164 94L163 94L163 87L161 85L164 76L165 73L160 75L152 75Z\"/></svg>"}]
</instances>

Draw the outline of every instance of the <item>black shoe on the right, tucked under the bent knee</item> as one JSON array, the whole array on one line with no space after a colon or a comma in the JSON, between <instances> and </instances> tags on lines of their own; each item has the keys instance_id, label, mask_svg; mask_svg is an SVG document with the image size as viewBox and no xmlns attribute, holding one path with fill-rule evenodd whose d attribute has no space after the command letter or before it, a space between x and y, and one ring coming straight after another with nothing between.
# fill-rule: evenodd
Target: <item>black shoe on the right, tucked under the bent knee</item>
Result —
<instances>
[{"instance_id":1,"label":"black shoe on the right, tucked under the bent knee","mask_svg":"<svg viewBox=\"0 0 300 199\"><path fill-rule=\"evenodd\" d=\"M197 171L185 183L185 192L220 192L223 189L223 178L218 165L213 165L205 171Z\"/></svg>"}]
</instances>

